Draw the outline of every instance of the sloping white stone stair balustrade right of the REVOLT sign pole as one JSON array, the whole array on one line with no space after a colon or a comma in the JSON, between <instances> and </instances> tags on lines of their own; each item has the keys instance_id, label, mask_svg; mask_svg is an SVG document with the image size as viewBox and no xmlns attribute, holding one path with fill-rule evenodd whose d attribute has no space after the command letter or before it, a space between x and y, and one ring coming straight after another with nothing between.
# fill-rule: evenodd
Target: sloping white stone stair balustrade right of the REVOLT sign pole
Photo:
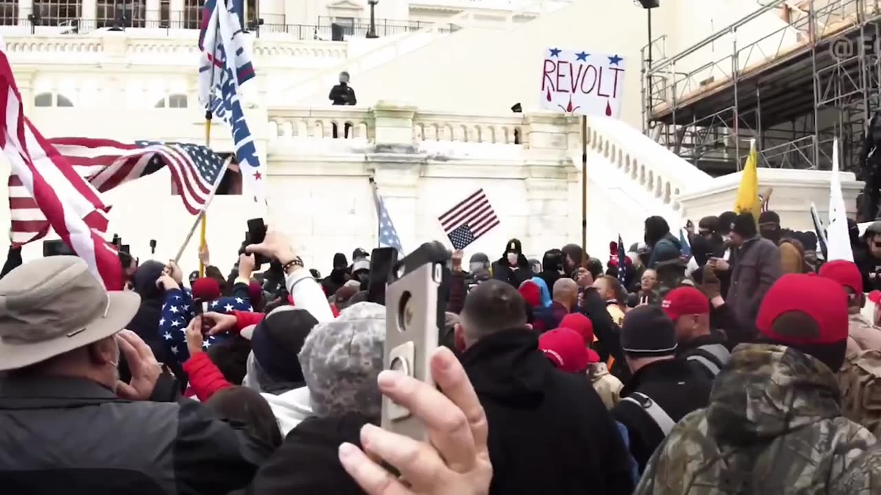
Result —
<instances>
[{"instance_id":1,"label":"sloping white stone stair balustrade right of the REVOLT sign pole","mask_svg":"<svg viewBox=\"0 0 881 495\"><path fill-rule=\"evenodd\" d=\"M625 122L589 118L588 147L674 210L679 209L677 196L713 181L710 175Z\"/></svg>"}]
</instances>

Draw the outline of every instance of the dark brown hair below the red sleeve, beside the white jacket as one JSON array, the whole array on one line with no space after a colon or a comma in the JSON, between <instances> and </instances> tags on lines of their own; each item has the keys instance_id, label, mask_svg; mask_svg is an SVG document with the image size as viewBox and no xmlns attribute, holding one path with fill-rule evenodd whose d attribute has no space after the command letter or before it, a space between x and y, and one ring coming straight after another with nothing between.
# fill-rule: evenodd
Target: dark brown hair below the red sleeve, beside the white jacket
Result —
<instances>
[{"instance_id":1,"label":"dark brown hair below the red sleeve, beside the white jacket","mask_svg":"<svg viewBox=\"0 0 881 495\"><path fill-rule=\"evenodd\" d=\"M246 425L246 431L252 437L263 440L273 450L281 447L284 441L270 404L255 390L247 387L224 388L211 395L205 406L224 419Z\"/></svg>"}]
</instances>

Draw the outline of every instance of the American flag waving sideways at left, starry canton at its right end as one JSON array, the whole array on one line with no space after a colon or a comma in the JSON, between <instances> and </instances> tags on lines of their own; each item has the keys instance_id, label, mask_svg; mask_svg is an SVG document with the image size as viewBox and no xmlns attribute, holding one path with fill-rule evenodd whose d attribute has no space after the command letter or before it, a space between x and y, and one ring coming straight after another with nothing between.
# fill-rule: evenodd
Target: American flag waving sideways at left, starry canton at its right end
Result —
<instances>
[{"instance_id":1,"label":"American flag waving sideways at left, starry canton at its right end","mask_svg":"<svg viewBox=\"0 0 881 495\"><path fill-rule=\"evenodd\" d=\"M224 159L217 153L197 144L126 144L86 137L59 137L48 142L76 174L100 192L167 166L184 207L193 215L202 211L224 166ZM13 243L22 245L46 235L48 221L17 174L9 178L9 206Z\"/></svg>"}]
</instances>

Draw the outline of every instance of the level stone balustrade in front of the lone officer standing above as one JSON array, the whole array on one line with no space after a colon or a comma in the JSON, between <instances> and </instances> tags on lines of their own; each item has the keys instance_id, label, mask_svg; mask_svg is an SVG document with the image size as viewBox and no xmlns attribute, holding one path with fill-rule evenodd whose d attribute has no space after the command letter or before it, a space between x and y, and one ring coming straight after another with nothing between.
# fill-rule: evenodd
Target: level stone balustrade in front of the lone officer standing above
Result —
<instances>
[{"instance_id":1,"label":"level stone balustrade in front of the lone officer standing above","mask_svg":"<svg viewBox=\"0 0 881 495\"><path fill-rule=\"evenodd\" d=\"M448 142L468 144L529 144L530 131L538 131L526 115L462 115L422 112L416 107L380 101L375 107L270 107L268 138L275 142L303 139L348 139L373 141L377 128L396 129L398 143ZM547 134L546 118L552 120L555 147L569 146L565 115L542 115L540 131ZM534 121L535 119L533 119ZM547 141L547 139L544 139Z\"/></svg>"}]
</instances>

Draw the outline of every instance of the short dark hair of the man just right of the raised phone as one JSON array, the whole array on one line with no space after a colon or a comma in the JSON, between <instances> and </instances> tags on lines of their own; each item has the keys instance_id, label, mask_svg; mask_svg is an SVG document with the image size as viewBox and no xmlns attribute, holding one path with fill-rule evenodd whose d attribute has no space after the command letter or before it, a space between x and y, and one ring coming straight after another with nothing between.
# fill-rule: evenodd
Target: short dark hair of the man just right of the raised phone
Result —
<instances>
[{"instance_id":1,"label":"short dark hair of the man just right of the raised phone","mask_svg":"<svg viewBox=\"0 0 881 495\"><path fill-rule=\"evenodd\" d=\"M487 280L465 297L462 318L470 337L480 338L525 326L526 303L511 284Z\"/></svg>"}]
</instances>

